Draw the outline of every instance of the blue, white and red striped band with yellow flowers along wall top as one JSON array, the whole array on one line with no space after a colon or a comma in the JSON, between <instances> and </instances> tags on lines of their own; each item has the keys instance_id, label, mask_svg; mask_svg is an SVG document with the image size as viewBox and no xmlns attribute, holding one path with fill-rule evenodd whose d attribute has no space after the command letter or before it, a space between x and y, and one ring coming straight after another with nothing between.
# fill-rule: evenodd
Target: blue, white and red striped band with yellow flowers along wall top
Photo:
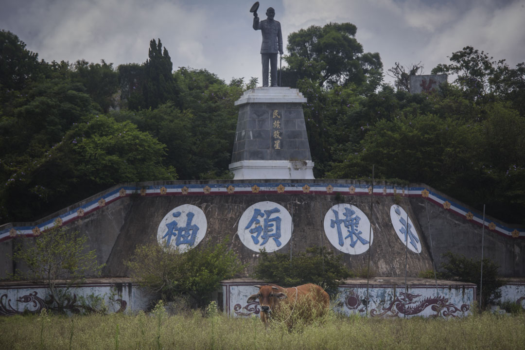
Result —
<instances>
[{"instance_id":1,"label":"blue, white and red striped band with yellow flowers along wall top","mask_svg":"<svg viewBox=\"0 0 525 350\"><path fill-rule=\"evenodd\" d=\"M350 186L349 186L350 185ZM321 182L268 182L268 183L201 183L201 184L164 184L144 186L116 186L107 193L88 203L74 207L56 217L38 222L34 226L13 226L6 224L0 227L0 242L13 239L16 236L37 237L40 232L57 226L67 225L69 222L81 219L93 211L100 210L111 203L129 196L232 196L235 194L265 195L277 194L306 194L306 195L345 195L345 196L401 196L421 197L437 205L442 210L450 211L464 220L475 225L485 227L498 235L507 238L525 239L525 229L509 228L491 220L483 220L481 214L472 213L469 209L454 201L443 197L432 189L425 187L400 186L371 186L366 184L341 184Z\"/></svg>"}]
</instances>

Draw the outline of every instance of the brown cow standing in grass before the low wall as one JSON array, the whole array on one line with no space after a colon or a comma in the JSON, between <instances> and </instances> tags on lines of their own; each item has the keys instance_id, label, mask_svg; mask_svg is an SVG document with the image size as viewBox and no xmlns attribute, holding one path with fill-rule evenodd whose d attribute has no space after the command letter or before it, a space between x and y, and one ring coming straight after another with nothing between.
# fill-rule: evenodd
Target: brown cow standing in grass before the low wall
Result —
<instances>
[{"instance_id":1,"label":"brown cow standing in grass before the low wall","mask_svg":"<svg viewBox=\"0 0 525 350\"><path fill-rule=\"evenodd\" d=\"M317 284L308 283L291 288L282 288L277 284L255 285L254 287L259 288L259 293L250 295L247 302L252 303L259 299L261 320L265 325L268 325L271 313L278 312L279 304L290 304L290 315L295 310L297 303L300 303L302 308L312 308L311 311L317 315L324 314L330 306L330 296ZM301 313L304 313L304 310Z\"/></svg>"}]
</instances>

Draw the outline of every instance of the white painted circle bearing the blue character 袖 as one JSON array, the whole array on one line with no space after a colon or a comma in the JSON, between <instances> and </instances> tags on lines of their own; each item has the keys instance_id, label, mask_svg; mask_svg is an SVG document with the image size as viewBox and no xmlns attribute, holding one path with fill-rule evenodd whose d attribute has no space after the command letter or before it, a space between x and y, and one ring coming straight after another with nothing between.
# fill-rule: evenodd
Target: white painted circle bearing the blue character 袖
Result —
<instances>
[{"instance_id":1,"label":"white painted circle bearing the blue character \u8896","mask_svg":"<svg viewBox=\"0 0 525 350\"><path fill-rule=\"evenodd\" d=\"M164 216L157 230L157 241L162 247L188 251L202 241L207 228L204 211L194 205L184 204Z\"/></svg>"}]
</instances>

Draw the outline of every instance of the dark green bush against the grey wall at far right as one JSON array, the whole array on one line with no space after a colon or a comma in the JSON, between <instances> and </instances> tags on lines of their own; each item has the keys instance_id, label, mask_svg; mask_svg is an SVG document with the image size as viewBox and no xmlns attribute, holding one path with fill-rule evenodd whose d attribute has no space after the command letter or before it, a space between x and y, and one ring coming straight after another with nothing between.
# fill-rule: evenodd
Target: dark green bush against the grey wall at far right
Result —
<instances>
[{"instance_id":1,"label":"dark green bush against the grey wall at far right","mask_svg":"<svg viewBox=\"0 0 525 350\"><path fill-rule=\"evenodd\" d=\"M442 256L448 261L440 264L445 271L439 273L438 278L475 283L478 293L477 300L480 300L479 291L481 290L482 308L485 308L487 304L495 304L496 300L501 298L499 288L503 285L503 281L498 275L498 264L490 259L483 259L483 286L480 289L481 260L468 259L450 251L443 253Z\"/></svg>"}]
</instances>

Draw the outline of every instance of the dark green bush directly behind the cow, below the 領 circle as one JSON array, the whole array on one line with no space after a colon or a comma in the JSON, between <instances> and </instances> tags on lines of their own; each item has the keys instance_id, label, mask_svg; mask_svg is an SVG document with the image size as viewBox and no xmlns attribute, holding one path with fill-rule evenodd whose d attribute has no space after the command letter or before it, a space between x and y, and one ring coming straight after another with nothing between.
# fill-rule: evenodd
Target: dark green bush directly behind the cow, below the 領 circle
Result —
<instances>
[{"instance_id":1,"label":"dark green bush directly behind the cow, below the \u9818 circle","mask_svg":"<svg viewBox=\"0 0 525 350\"><path fill-rule=\"evenodd\" d=\"M350 277L349 269L341 260L341 256L335 256L326 247L307 248L291 259L288 254L262 251L255 277L283 286L315 283L333 295L339 281Z\"/></svg>"}]
</instances>

